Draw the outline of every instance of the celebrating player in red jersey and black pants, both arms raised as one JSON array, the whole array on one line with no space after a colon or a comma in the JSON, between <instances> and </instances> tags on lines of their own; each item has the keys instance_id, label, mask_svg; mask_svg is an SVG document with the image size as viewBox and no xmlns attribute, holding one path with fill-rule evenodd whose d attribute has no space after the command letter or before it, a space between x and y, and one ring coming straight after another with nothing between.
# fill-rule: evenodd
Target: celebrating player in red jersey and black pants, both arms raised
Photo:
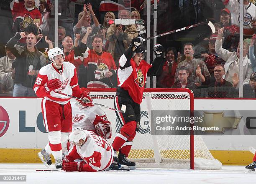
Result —
<instances>
[{"instance_id":1,"label":"celebrating player in red jersey and black pants, both arms raised","mask_svg":"<svg viewBox=\"0 0 256 184\"><path fill-rule=\"evenodd\" d=\"M146 76L158 75L163 68L165 60L164 47L155 45L156 55L152 65L143 60L143 51L140 46L141 37L132 40L131 46L120 57L118 68L118 87L115 96L115 108L120 110L126 105L125 113L116 112L123 127L120 129L112 144L114 148L114 161L135 169L135 163L127 159L132 147L132 141L139 130L141 120L141 102ZM117 155L117 151L119 154Z\"/></svg>"}]
</instances>

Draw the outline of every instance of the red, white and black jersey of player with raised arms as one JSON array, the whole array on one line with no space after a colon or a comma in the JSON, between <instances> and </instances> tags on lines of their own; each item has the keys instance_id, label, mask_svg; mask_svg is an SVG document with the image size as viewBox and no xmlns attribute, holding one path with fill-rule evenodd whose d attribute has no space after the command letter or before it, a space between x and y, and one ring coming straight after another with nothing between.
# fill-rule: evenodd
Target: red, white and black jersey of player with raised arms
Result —
<instances>
[{"instance_id":1,"label":"red, white and black jersey of player with raised arms","mask_svg":"<svg viewBox=\"0 0 256 184\"><path fill-rule=\"evenodd\" d=\"M131 48L129 48L129 50L130 49ZM128 91L134 102L141 104L146 75L148 70L151 68L151 65L146 61L141 60L140 65L137 66L131 57L132 53L129 51L126 51L125 54L120 57L120 66L117 72L118 86ZM128 58L131 58L130 62L128 61Z\"/></svg>"}]
</instances>

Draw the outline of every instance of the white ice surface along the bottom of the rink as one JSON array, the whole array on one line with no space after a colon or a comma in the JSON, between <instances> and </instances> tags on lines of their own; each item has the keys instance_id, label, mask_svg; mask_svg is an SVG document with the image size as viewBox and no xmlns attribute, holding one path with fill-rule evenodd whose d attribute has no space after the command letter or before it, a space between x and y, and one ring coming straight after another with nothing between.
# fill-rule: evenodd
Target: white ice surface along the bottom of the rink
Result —
<instances>
[{"instance_id":1,"label":"white ice surface along the bottom of the rink","mask_svg":"<svg viewBox=\"0 0 256 184\"><path fill-rule=\"evenodd\" d=\"M221 170L135 169L104 172L36 172L43 164L0 164L0 175L26 175L27 182L3 184L246 184L256 181L256 172L244 166L223 166ZM51 166L49 169L54 169Z\"/></svg>"}]
</instances>

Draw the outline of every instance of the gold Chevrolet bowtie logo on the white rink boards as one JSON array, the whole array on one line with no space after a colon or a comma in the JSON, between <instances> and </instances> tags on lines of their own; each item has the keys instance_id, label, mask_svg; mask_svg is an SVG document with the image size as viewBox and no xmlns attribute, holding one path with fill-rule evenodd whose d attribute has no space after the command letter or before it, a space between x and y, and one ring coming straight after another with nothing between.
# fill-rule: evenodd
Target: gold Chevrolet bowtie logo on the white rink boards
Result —
<instances>
[{"instance_id":1,"label":"gold Chevrolet bowtie logo on the white rink boards","mask_svg":"<svg viewBox=\"0 0 256 184\"><path fill-rule=\"evenodd\" d=\"M224 116L224 112L203 112L203 122L198 123L199 127L219 127L219 130L205 131L205 133L222 133L225 129L237 129L242 116Z\"/></svg>"}]
</instances>

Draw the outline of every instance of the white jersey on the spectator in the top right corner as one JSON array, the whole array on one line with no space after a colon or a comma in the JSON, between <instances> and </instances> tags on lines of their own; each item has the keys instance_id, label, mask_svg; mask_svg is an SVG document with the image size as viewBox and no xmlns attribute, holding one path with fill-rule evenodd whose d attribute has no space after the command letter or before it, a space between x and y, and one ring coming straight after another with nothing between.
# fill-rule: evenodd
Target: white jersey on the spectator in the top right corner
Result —
<instances>
[{"instance_id":1,"label":"white jersey on the spectator in the top right corner","mask_svg":"<svg viewBox=\"0 0 256 184\"><path fill-rule=\"evenodd\" d=\"M240 15L240 3L238 0L222 0L224 5L230 10L231 22L233 25L239 27L239 15ZM240 0L243 3L242 0ZM256 21L256 6L249 2L248 5L243 5L244 15L243 15L243 28L252 29L252 21Z\"/></svg>"}]
</instances>

